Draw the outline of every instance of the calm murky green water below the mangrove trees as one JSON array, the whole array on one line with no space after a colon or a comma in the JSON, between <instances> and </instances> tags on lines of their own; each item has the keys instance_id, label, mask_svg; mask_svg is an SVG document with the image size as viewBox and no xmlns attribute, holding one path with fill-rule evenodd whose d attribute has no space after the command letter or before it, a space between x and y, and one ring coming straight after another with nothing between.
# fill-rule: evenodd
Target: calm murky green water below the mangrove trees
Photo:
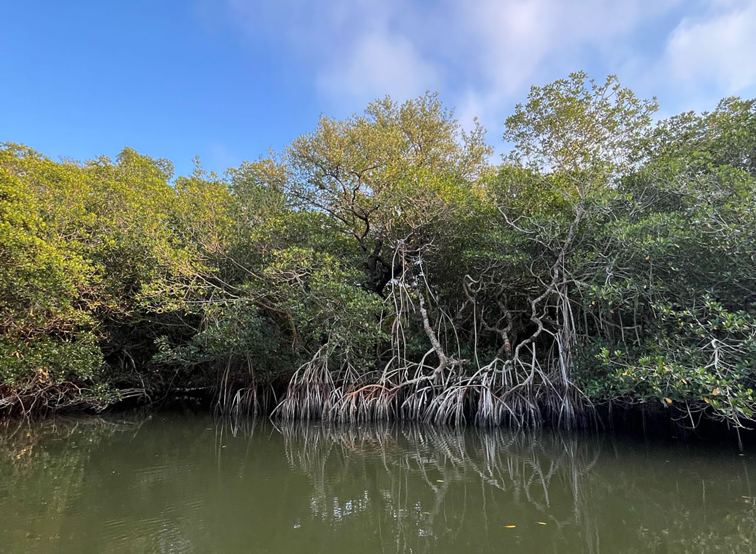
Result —
<instances>
[{"instance_id":1,"label":"calm murky green water below the mangrove trees","mask_svg":"<svg viewBox=\"0 0 756 554\"><path fill-rule=\"evenodd\" d=\"M756 552L756 457L199 416L0 425L0 552Z\"/></svg>"}]
</instances>

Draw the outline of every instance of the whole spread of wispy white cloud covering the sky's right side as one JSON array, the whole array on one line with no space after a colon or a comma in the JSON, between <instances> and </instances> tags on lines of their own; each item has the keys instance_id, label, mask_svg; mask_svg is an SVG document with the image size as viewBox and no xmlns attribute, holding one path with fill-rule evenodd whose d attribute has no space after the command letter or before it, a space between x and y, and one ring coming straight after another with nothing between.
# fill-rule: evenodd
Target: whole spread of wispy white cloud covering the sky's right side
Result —
<instances>
[{"instance_id":1,"label":"whole spread of wispy white cloud covering the sky's right side","mask_svg":"<svg viewBox=\"0 0 756 554\"><path fill-rule=\"evenodd\" d=\"M756 0L226 2L246 39L301 63L326 110L431 89L498 132L528 85L578 69L624 72L671 110L756 85Z\"/></svg>"}]
</instances>

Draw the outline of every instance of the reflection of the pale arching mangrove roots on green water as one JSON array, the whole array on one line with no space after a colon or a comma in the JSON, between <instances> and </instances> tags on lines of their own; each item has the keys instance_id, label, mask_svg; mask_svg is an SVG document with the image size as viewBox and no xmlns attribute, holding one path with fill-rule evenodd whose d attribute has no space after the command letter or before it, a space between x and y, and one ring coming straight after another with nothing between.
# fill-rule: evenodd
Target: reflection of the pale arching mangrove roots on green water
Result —
<instances>
[{"instance_id":1,"label":"reflection of the pale arching mangrove roots on green water","mask_svg":"<svg viewBox=\"0 0 756 554\"><path fill-rule=\"evenodd\" d=\"M435 551L473 537L488 537L491 549L500 541L546 546L595 527L582 489L600 438L429 426L280 432L290 466L311 480L312 519L363 536L378 524L383 552ZM585 534L584 551L599 551L595 537Z\"/></svg>"}]
</instances>

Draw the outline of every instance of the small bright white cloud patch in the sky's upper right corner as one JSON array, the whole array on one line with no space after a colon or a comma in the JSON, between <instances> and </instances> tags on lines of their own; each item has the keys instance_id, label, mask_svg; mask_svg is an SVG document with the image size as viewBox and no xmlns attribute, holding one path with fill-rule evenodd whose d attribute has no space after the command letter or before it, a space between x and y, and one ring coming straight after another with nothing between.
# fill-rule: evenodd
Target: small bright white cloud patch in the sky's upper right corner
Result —
<instances>
[{"instance_id":1,"label":"small bright white cloud patch in the sky's upper right corner","mask_svg":"<svg viewBox=\"0 0 756 554\"><path fill-rule=\"evenodd\" d=\"M666 63L688 85L738 94L756 85L756 2L713 2L705 17L686 17L669 36Z\"/></svg>"}]
</instances>

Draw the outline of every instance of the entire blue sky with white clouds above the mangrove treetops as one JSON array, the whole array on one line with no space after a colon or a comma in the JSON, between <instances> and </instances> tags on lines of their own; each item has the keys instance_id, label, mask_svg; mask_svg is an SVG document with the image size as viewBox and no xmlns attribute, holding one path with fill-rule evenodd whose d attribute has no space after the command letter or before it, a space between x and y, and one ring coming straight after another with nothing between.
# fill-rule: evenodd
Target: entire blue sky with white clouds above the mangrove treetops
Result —
<instances>
[{"instance_id":1,"label":"entire blue sky with white clouds above the mangrove treetops","mask_svg":"<svg viewBox=\"0 0 756 554\"><path fill-rule=\"evenodd\" d=\"M5 2L0 141L222 171L375 97L439 91L499 149L532 84L617 73L662 115L756 96L756 0Z\"/></svg>"}]
</instances>

